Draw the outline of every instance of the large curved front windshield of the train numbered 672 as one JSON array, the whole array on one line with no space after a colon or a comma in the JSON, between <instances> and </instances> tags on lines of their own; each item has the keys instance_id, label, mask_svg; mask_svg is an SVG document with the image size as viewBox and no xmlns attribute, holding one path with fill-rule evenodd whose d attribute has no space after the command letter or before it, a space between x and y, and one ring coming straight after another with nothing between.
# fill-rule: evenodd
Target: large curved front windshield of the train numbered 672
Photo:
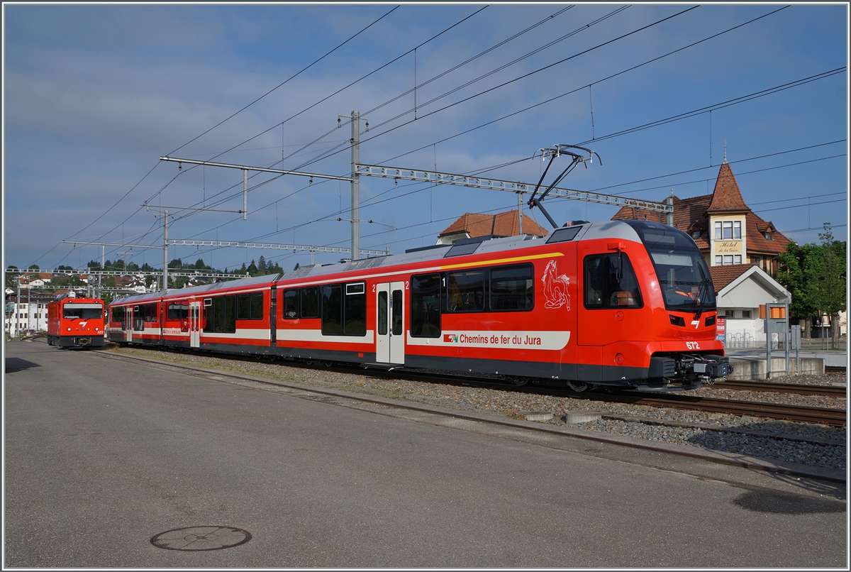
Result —
<instances>
[{"instance_id":1,"label":"large curved front windshield of the train numbered 672","mask_svg":"<svg viewBox=\"0 0 851 572\"><path fill-rule=\"evenodd\" d=\"M639 221L631 224L642 238L659 277L665 308L674 312L702 312L717 309L709 267L694 241L671 226Z\"/></svg>"}]
</instances>

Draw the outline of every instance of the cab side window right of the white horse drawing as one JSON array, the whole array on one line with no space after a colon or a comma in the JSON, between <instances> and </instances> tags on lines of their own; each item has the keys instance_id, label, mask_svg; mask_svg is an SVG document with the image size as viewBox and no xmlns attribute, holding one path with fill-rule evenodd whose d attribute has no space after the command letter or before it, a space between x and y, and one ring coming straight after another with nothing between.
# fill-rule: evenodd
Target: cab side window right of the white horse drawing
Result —
<instances>
[{"instance_id":1,"label":"cab side window right of the white horse drawing","mask_svg":"<svg viewBox=\"0 0 851 572\"><path fill-rule=\"evenodd\" d=\"M585 257L585 307L640 308L641 290L625 253Z\"/></svg>"}]
</instances>

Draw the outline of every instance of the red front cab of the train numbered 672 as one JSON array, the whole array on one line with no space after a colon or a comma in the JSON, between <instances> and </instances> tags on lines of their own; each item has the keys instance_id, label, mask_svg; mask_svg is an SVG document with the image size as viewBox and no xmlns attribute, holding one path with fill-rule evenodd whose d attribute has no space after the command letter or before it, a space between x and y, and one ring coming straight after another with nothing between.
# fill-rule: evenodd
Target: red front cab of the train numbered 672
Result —
<instances>
[{"instance_id":1,"label":"red front cab of the train numbered 672","mask_svg":"<svg viewBox=\"0 0 851 572\"><path fill-rule=\"evenodd\" d=\"M600 380L658 391L732 373L716 339L715 292L697 245L671 226L623 222L637 241L589 241L577 257L585 301L579 343L600 345ZM603 280L614 285L607 289ZM595 299L596 290L608 302Z\"/></svg>"}]
</instances>

